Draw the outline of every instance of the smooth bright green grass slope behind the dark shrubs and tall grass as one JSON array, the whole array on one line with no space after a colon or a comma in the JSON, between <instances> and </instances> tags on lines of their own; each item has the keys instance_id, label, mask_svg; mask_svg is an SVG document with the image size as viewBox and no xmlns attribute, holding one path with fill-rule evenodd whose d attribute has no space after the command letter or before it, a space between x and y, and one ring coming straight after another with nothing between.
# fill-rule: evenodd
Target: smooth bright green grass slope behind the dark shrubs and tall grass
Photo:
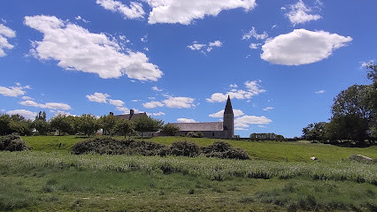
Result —
<instances>
[{"instance_id":1,"label":"smooth bright green grass slope behind the dark shrubs and tall grass","mask_svg":"<svg viewBox=\"0 0 377 212\"><path fill-rule=\"evenodd\" d=\"M33 151L45 152L69 152L73 144L88 138L77 136L26 136L22 137L27 145L33 147ZM117 137L121 140L123 137ZM214 139L185 138L185 137L155 137L146 139L165 145L170 145L177 140L190 140L199 146L208 146ZM225 140L235 147L245 149L252 159L267 161L311 162L311 157L316 156L321 161L337 162L347 159L350 155L360 154L377 158L377 147L370 148L341 148L325 144L313 144L308 141L278 142L278 141L243 141ZM62 143L61 148L58 148Z\"/></svg>"}]
</instances>

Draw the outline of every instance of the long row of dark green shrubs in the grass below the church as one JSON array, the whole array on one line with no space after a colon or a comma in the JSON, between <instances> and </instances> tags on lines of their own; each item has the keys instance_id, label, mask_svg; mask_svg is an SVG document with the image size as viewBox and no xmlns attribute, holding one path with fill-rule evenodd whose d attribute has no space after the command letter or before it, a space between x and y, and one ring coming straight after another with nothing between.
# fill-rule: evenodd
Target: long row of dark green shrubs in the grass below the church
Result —
<instances>
[{"instance_id":1,"label":"long row of dark green shrubs in the grass below the church","mask_svg":"<svg viewBox=\"0 0 377 212\"><path fill-rule=\"evenodd\" d=\"M242 148L234 148L224 141L215 141L212 145L199 148L196 143L183 140L175 141L169 146L145 140L114 140L110 137L84 140L76 143L72 153L86 154L97 153L106 155L174 155L196 157L219 157L228 159L250 159Z\"/></svg>"}]
</instances>

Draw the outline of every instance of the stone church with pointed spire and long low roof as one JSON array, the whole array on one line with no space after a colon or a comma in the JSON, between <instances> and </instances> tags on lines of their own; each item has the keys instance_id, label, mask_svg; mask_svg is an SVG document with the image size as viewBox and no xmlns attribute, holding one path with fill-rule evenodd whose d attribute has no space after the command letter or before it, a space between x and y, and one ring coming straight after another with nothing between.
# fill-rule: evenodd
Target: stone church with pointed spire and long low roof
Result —
<instances>
[{"instance_id":1,"label":"stone church with pointed spire and long low roof","mask_svg":"<svg viewBox=\"0 0 377 212\"><path fill-rule=\"evenodd\" d=\"M178 135L186 135L189 132L202 132L205 138L232 139L235 137L235 115L232 102L227 96L227 105L224 110L223 122L199 122L199 123L171 123L180 128Z\"/></svg>"}]
</instances>

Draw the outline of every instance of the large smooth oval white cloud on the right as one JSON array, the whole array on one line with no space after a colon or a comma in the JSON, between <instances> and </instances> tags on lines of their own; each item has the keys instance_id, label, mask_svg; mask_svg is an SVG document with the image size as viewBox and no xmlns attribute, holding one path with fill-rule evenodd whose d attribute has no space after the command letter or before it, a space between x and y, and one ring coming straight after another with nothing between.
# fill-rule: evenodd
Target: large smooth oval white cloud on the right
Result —
<instances>
[{"instance_id":1,"label":"large smooth oval white cloud on the right","mask_svg":"<svg viewBox=\"0 0 377 212\"><path fill-rule=\"evenodd\" d=\"M333 50L352 41L350 36L295 29L265 42L261 58L273 64L312 64L330 57Z\"/></svg>"}]
</instances>

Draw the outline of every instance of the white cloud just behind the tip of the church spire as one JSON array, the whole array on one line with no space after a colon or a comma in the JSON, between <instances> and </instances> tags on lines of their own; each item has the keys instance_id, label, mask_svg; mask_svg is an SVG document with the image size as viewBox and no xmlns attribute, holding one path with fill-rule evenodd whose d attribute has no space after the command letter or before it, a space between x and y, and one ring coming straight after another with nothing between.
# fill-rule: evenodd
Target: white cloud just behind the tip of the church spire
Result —
<instances>
[{"instance_id":1,"label":"white cloud just behind the tip of the church spire","mask_svg":"<svg viewBox=\"0 0 377 212\"><path fill-rule=\"evenodd\" d=\"M250 99L254 95L259 95L265 93L265 89L261 88L258 83L262 82L261 80L246 81L244 83L246 90L243 89L231 89L226 94L214 93L211 95L211 98L205 99L207 102L225 102L227 101L227 96L231 99Z\"/></svg>"}]
</instances>

